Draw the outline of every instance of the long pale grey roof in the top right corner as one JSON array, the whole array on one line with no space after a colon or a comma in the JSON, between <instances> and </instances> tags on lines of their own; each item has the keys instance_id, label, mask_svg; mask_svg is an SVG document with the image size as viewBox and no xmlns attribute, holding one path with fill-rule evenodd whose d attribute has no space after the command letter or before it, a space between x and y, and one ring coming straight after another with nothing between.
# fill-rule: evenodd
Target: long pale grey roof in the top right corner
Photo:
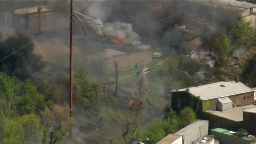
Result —
<instances>
[{"instance_id":1,"label":"long pale grey roof in the top right corner","mask_svg":"<svg viewBox=\"0 0 256 144\"><path fill-rule=\"evenodd\" d=\"M237 0L195 0L192 2L199 2L203 4L213 4L213 5L223 5L223 6L232 6L232 7L238 7L238 8L254 8L256 7L256 4L249 3L246 1L237 1Z\"/></svg>"}]
</instances>

